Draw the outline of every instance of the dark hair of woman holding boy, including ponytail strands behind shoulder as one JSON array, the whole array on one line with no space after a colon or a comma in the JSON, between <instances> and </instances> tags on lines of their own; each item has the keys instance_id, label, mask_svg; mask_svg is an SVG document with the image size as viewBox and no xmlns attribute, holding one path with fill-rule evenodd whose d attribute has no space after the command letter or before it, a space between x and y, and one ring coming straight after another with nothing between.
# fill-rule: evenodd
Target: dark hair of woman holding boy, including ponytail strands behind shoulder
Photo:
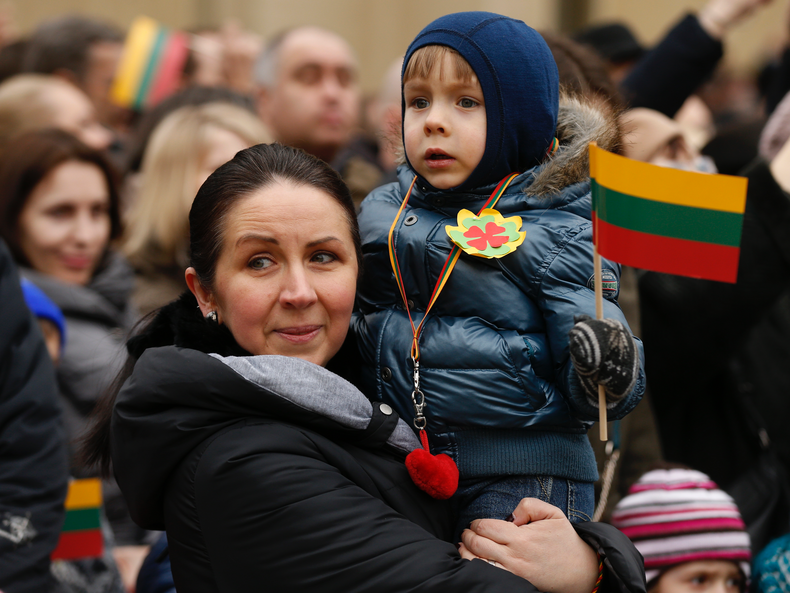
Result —
<instances>
[{"instance_id":1,"label":"dark hair of woman holding boy, including ponytail strands behind shoulder","mask_svg":"<svg viewBox=\"0 0 790 593\"><path fill-rule=\"evenodd\" d=\"M343 208L361 270L362 244L356 210L348 187L343 183L340 175L324 161L303 150L282 144L258 144L238 152L233 160L214 171L200 187L192 202L192 209L189 212L190 264L195 268L200 283L205 288L213 289L217 260L224 243L225 227L233 207L255 191L278 181L319 189L330 195ZM175 304L166 305L163 309L170 307L172 311ZM194 310L194 307L191 307L191 310ZM168 320L160 319L157 313L155 311L143 320L138 326L141 329L134 332L134 337L127 343L129 358L112 386L96 405L93 425L83 439L81 447L83 462L88 466L99 466L103 476L110 474L110 422L115 399L126 379L132 374L137 358L148 347L169 344L190 347L189 344L178 343L179 338ZM211 327L207 326L206 331ZM230 335L225 326L218 326L214 331L217 329L224 330ZM222 339L221 335L216 336L217 341Z\"/></svg>"}]
</instances>

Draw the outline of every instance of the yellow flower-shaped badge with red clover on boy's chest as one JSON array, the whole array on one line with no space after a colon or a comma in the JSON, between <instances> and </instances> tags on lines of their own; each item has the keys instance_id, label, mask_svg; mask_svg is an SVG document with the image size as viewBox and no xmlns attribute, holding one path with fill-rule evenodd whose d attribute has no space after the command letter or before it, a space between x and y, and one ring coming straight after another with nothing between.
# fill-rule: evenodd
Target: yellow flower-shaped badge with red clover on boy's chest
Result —
<instances>
[{"instance_id":1,"label":"yellow flower-shaped badge with red clover on boy's chest","mask_svg":"<svg viewBox=\"0 0 790 593\"><path fill-rule=\"evenodd\" d=\"M480 216L461 210L458 226L447 225L444 230L465 253L491 259L506 256L524 242L527 233L520 228L520 216L504 218L497 210L485 208Z\"/></svg>"}]
</instances>

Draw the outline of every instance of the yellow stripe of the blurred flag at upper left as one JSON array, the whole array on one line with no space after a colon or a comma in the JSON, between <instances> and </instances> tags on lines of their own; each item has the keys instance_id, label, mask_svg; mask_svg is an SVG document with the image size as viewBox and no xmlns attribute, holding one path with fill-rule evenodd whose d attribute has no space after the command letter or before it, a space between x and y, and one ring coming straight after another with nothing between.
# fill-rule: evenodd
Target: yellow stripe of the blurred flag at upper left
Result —
<instances>
[{"instance_id":1,"label":"yellow stripe of the blurred flag at upper left","mask_svg":"<svg viewBox=\"0 0 790 593\"><path fill-rule=\"evenodd\" d=\"M124 43L123 57L110 90L110 97L118 105L128 107L137 97L158 31L159 23L146 16L138 16L132 22Z\"/></svg>"}]
</instances>

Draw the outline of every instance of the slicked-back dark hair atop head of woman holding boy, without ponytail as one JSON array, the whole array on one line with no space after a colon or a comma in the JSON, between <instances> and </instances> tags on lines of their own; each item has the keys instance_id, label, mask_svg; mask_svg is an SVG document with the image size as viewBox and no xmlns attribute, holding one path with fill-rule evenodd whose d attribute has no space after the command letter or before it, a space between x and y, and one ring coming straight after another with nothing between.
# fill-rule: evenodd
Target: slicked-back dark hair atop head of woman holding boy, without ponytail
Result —
<instances>
[{"instance_id":1,"label":"slicked-back dark hair atop head of woman holding boy, without ponytail","mask_svg":"<svg viewBox=\"0 0 790 593\"><path fill-rule=\"evenodd\" d=\"M340 175L324 161L298 148L258 144L242 150L206 179L189 211L189 259L200 282L212 288L228 212L242 198L276 181L307 185L329 194L343 208L357 263L362 245L354 202Z\"/></svg>"}]
</instances>

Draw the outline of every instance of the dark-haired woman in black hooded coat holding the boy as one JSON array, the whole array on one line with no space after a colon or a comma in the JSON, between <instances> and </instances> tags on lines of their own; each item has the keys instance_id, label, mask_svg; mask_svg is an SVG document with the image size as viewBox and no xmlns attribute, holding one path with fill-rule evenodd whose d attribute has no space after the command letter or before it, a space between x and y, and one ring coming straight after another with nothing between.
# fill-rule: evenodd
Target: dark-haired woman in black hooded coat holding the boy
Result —
<instances>
[{"instance_id":1,"label":"dark-haired woman in black hooded coat holding the boy","mask_svg":"<svg viewBox=\"0 0 790 593\"><path fill-rule=\"evenodd\" d=\"M412 429L346 380L361 240L327 165L239 152L198 191L190 254L190 292L129 341L88 442L135 520L167 529L177 589L643 591L621 534L537 500L450 543L406 470Z\"/></svg>"}]
</instances>

